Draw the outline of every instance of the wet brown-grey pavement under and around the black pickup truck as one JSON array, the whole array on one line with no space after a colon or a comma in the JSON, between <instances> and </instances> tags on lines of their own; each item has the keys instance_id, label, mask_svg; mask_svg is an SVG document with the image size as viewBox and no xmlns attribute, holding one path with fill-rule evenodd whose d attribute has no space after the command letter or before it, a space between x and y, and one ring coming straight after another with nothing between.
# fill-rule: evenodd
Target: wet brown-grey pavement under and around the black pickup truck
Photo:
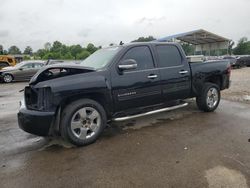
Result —
<instances>
[{"instance_id":1,"label":"wet brown-grey pavement under and around the black pickup truck","mask_svg":"<svg viewBox=\"0 0 250 188\"><path fill-rule=\"evenodd\" d=\"M0 85L0 187L248 187L250 105L185 108L111 123L76 148L18 128L26 83Z\"/></svg>"}]
</instances>

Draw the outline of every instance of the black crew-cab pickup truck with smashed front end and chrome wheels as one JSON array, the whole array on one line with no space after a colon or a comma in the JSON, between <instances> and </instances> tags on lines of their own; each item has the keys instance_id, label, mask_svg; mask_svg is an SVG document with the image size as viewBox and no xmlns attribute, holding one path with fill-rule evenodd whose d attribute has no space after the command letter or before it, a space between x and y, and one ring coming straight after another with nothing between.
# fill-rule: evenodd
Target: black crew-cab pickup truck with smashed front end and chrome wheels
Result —
<instances>
[{"instance_id":1,"label":"black crew-cab pickup truck with smashed front end and chrome wheels","mask_svg":"<svg viewBox=\"0 0 250 188\"><path fill-rule=\"evenodd\" d=\"M108 121L173 110L196 97L214 111L229 88L227 61L188 62L176 43L130 43L96 51L79 65L44 67L25 87L18 123L26 132L93 143Z\"/></svg>"}]
</instances>

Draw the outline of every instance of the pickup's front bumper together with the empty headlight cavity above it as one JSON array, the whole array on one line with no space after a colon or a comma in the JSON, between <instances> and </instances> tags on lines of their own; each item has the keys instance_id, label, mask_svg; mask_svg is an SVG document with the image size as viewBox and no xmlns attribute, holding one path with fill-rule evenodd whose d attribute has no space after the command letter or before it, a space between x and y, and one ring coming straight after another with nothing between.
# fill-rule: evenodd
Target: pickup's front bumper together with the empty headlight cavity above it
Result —
<instances>
[{"instance_id":1,"label":"pickup's front bumper together with the empty headlight cavity above it","mask_svg":"<svg viewBox=\"0 0 250 188\"><path fill-rule=\"evenodd\" d=\"M31 134L48 136L56 115L51 101L49 87L39 89L25 87L24 100L18 112L19 127Z\"/></svg>"}]
</instances>

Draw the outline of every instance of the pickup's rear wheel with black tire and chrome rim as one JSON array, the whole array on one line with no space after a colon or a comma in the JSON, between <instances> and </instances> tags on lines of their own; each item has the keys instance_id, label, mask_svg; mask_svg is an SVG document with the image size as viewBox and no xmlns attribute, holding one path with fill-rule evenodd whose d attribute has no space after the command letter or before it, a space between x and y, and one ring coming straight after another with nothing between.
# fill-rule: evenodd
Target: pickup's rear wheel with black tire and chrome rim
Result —
<instances>
[{"instance_id":1,"label":"pickup's rear wheel with black tire and chrome rim","mask_svg":"<svg viewBox=\"0 0 250 188\"><path fill-rule=\"evenodd\" d=\"M220 89L213 83L205 83L201 94L196 97L198 108L204 112L213 112L220 103Z\"/></svg>"}]
</instances>

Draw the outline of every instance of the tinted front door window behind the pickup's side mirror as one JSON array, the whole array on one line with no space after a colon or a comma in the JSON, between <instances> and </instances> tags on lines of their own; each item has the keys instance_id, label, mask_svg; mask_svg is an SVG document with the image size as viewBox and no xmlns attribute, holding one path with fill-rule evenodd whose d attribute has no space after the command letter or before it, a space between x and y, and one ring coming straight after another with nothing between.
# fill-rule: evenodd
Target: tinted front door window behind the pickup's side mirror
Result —
<instances>
[{"instance_id":1,"label":"tinted front door window behind the pickup's side mirror","mask_svg":"<svg viewBox=\"0 0 250 188\"><path fill-rule=\"evenodd\" d=\"M129 49L122 60L134 59L137 62L136 70L154 68L153 58L147 46L138 46Z\"/></svg>"}]
</instances>

